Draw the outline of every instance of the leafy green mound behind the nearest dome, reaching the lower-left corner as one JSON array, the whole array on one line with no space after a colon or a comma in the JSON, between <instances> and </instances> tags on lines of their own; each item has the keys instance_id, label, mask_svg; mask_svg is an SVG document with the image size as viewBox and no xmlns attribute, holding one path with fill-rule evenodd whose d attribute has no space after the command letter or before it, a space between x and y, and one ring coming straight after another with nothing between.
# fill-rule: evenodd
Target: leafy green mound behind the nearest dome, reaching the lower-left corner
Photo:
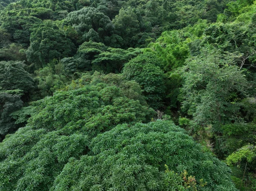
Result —
<instances>
[{"instance_id":1,"label":"leafy green mound behind the nearest dome, reaching the lower-left corner","mask_svg":"<svg viewBox=\"0 0 256 191\"><path fill-rule=\"evenodd\" d=\"M134 96L137 83L115 74L94 77L35 102L26 127L0 143L0 190L49 191L70 157L87 154L97 134L151 120L153 110Z\"/></svg>"}]
</instances>

